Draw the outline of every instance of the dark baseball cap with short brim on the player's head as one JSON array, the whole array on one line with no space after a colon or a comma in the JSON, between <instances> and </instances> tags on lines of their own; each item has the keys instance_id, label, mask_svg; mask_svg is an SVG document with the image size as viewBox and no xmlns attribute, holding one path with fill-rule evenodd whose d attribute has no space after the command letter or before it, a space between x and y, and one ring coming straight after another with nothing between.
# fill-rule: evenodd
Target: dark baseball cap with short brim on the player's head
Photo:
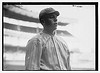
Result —
<instances>
[{"instance_id":1,"label":"dark baseball cap with short brim on the player's head","mask_svg":"<svg viewBox=\"0 0 100 73\"><path fill-rule=\"evenodd\" d=\"M46 9L43 9L41 10L40 14L39 14L39 18L43 17L43 16L46 16L48 14L51 14L51 13L54 13L56 14L57 16L60 15L60 13L58 11L56 11L55 9L49 7L49 8L46 8Z\"/></svg>"}]
</instances>

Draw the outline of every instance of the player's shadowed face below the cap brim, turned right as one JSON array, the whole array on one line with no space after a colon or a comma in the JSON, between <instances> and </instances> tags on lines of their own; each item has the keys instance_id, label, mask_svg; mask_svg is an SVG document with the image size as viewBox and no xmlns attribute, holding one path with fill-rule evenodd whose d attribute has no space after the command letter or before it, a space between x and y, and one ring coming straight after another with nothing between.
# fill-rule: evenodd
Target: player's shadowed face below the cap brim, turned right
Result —
<instances>
[{"instance_id":1,"label":"player's shadowed face below the cap brim, turned right","mask_svg":"<svg viewBox=\"0 0 100 73\"><path fill-rule=\"evenodd\" d=\"M50 14L45 20L46 27L50 30L57 29L57 15Z\"/></svg>"}]
</instances>

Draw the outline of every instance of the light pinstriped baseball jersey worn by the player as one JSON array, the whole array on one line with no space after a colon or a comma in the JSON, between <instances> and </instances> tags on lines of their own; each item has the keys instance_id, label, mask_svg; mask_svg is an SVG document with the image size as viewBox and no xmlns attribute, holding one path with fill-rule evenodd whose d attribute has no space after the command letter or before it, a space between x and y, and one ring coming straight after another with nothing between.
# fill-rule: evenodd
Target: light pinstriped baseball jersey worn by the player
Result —
<instances>
[{"instance_id":1,"label":"light pinstriped baseball jersey worn by the player","mask_svg":"<svg viewBox=\"0 0 100 73\"><path fill-rule=\"evenodd\" d=\"M56 35L40 33L26 46L26 70L70 70L66 43Z\"/></svg>"}]
</instances>

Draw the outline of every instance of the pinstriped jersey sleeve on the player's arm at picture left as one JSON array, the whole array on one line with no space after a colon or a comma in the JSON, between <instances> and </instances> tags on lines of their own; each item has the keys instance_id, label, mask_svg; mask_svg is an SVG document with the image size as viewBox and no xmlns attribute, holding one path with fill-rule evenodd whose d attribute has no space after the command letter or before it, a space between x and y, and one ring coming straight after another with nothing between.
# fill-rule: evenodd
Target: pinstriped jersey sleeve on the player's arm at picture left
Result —
<instances>
[{"instance_id":1,"label":"pinstriped jersey sleeve on the player's arm at picture left","mask_svg":"<svg viewBox=\"0 0 100 73\"><path fill-rule=\"evenodd\" d=\"M29 41L26 46L25 69L39 70L42 54L41 42L38 39Z\"/></svg>"}]
</instances>

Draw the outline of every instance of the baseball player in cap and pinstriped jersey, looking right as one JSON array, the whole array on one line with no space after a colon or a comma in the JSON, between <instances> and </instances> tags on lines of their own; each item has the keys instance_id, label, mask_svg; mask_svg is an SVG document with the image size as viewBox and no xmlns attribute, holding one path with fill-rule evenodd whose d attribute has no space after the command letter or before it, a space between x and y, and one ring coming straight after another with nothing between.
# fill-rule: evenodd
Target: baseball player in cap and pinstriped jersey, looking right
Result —
<instances>
[{"instance_id":1,"label":"baseball player in cap and pinstriped jersey, looking right","mask_svg":"<svg viewBox=\"0 0 100 73\"><path fill-rule=\"evenodd\" d=\"M39 14L43 31L28 41L26 46L26 70L71 70L70 53L66 43L55 34L57 16L53 8L43 9Z\"/></svg>"}]
</instances>

